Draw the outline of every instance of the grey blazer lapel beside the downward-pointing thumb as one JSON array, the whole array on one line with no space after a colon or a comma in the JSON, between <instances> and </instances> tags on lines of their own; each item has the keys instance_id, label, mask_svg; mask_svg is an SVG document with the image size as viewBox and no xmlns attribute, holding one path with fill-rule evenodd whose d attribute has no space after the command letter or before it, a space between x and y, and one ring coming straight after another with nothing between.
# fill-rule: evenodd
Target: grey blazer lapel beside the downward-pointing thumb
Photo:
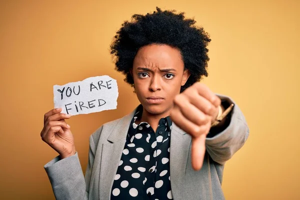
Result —
<instances>
[{"instance_id":1,"label":"grey blazer lapel beside the downward-pointing thumb","mask_svg":"<svg viewBox=\"0 0 300 200\"><path fill-rule=\"evenodd\" d=\"M191 136L172 123L170 141L170 181L173 199L184 199L184 175Z\"/></svg>"}]
</instances>

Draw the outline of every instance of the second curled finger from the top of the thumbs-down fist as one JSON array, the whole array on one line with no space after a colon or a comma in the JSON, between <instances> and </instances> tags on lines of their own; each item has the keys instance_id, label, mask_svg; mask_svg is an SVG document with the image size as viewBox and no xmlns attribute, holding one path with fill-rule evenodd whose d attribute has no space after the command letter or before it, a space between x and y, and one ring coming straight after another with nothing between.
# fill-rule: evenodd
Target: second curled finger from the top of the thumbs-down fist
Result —
<instances>
[{"instance_id":1,"label":"second curled finger from the top of the thumbs-down fist","mask_svg":"<svg viewBox=\"0 0 300 200\"><path fill-rule=\"evenodd\" d=\"M213 116L216 112L217 107L203 96L195 94L195 92L186 92L185 95L187 96L187 99L191 104L193 104L205 114Z\"/></svg>"}]
</instances>

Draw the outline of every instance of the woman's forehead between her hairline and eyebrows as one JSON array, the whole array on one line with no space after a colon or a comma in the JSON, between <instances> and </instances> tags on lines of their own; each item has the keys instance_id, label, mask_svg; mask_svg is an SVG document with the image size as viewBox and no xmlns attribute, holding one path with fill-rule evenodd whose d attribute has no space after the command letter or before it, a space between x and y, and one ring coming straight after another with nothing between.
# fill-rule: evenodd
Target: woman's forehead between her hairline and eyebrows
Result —
<instances>
[{"instance_id":1,"label":"woman's forehead between her hairline and eyebrows","mask_svg":"<svg viewBox=\"0 0 300 200\"><path fill-rule=\"evenodd\" d=\"M183 61L181 53L177 48L166 44L150 44L142 46L134 57L133 67L140 65L146 65L148 67L172 66L183 68Z\"/></svg>"}]
</instances>

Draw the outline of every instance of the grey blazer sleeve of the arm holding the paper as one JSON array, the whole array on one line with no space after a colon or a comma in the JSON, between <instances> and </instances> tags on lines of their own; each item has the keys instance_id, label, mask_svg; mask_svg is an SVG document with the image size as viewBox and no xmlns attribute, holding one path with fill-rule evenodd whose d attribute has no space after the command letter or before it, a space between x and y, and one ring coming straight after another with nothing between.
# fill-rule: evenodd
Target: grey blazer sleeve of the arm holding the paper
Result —
<instances>
[{"instance_id":1,"label":"grey blazer sleeve of the arm holding the paper","mask_svg":"<svg viewBox=\"0 0 300 200\"><path fill-rule=\"evenodd\" d=\"M102 126L97 130L101 131ZM56 156L44 165L50 180L54 196L57 200L88 199L89 183L92 172L96 145L92 135L89 137L88 163L83 175L77 152L74 155L60 159Z\"/></svg>"}]
</instances>

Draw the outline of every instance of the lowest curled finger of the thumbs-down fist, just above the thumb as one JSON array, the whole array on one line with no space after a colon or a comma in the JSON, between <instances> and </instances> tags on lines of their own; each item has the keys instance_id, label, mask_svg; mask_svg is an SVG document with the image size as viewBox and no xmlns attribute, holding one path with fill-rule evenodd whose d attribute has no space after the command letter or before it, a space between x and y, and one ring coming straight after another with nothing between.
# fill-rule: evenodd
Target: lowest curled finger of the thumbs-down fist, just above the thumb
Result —
<instances>
[{"instance_id":1,"label":"lowest curled finger of the thumbs-down fist, just above the thumb","mask_svg":"<svg viewBox=\"0 0 300 200\"><path fill-rule=\"evenodd\" d=\"M207 127L205 125L196 125L187 118L183 116L178 106L174 106L171 111L171 119L172 121L182 130L187 132L188 134L197 137L199 134L206 131ZM210 123L211 120L209 120L207 123ZM206 123L206 124L207 124Z\"/></svg>"}]
</instances>

